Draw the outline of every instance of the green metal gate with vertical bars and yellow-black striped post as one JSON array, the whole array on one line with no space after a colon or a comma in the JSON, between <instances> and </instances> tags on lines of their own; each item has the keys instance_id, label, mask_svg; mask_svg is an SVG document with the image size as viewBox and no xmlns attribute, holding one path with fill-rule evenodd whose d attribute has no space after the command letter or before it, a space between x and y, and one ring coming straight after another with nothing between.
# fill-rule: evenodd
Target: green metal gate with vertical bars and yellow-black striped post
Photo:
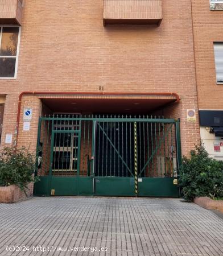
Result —
<instances>
[{"instance_id":1,"label":"green metal gate with vertical bars and yellow-black striped post","mask_svg":"<svg viewBox=\"0 0 223 256\"><path fill-rule=\"evenodd\" d=\"M179 119L40 117L35 195L179 196Z\"/></svg>"}]
</instances>

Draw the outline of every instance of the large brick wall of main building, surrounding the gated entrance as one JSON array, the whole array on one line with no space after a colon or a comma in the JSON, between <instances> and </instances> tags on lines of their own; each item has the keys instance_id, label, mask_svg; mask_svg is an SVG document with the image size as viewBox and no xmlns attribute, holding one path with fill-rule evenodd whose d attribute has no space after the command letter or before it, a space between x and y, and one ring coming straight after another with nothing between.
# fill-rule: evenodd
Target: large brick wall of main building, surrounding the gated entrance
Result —
<instances>
[{"instance_id":1,"label":"large brick wall of main building, surrounding the gated entrance","mask_svg":"<svg viewBox=\"0 0 223 256\"><path fill-rule=\"evenodd\" d=\"M24 90L98 92L104 86L106 92L176 92L187 154L198 127L185 121L186 109L197 109L191 1L163 1L160 27L104 27L102 12L102 1L25 1L18 76L0 80L7 94L3 137L14 134ZM24 106L34 108L29 132L22 131ZM19 145L35 150L39 115L40 100L24 96Z\"/></svg>"}]
</instances>

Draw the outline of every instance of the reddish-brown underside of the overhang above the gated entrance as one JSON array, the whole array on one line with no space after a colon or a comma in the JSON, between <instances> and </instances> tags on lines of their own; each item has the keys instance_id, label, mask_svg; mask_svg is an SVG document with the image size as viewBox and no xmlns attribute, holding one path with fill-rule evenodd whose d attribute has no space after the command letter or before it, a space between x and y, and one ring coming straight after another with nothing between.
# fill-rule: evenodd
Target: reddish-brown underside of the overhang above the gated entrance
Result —
<instances>
[{"instance_id":1,"label":"reddish-brown underside of the overhang above the gated entrance","mask_svg":"<svg viewBox=\"0 0 223 256\"><path fill-rule=\"evenodd\" d=\"M41 96L55 113L148 114L176 101L175 96Z\"/></svg>"}]
</instances>

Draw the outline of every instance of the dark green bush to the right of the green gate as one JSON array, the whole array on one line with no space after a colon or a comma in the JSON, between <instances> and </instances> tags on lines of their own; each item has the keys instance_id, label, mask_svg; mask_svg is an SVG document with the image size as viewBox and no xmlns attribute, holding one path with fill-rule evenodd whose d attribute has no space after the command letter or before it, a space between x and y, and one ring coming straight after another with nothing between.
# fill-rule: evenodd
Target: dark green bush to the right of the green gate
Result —
<instances>
[{"instance_id":1,"label":"dark green bush to the right of the green gate","mask_svg":"<svg viewBox=\"0 0 223 256\"><path fill-rule=\"evenodd\" d=\"M223 196L223 162L209 158L203 144L183 157L180 168L180 187L183 197L192 201L196 196Z\"/></svg>"}]
</instances>

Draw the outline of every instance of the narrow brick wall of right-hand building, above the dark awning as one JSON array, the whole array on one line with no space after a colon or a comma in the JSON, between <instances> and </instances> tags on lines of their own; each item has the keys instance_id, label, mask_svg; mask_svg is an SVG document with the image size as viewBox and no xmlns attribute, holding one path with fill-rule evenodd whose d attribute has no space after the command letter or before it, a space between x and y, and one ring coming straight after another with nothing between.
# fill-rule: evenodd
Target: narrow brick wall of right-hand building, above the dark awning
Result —
<instances>
[{"instance_id":1,"label":"narrow brick wall of right-hand building, above the dark awning","mask_svg":"<svg viewBox=\"0 0 223 256\"><path fill-rule=\"evenodd\" d=\"M223 85L216 84L213 42L223 42L223 11L210 11L209 1L192 0L199 109L223 109Z\"/></svg>"}]
</instances>

